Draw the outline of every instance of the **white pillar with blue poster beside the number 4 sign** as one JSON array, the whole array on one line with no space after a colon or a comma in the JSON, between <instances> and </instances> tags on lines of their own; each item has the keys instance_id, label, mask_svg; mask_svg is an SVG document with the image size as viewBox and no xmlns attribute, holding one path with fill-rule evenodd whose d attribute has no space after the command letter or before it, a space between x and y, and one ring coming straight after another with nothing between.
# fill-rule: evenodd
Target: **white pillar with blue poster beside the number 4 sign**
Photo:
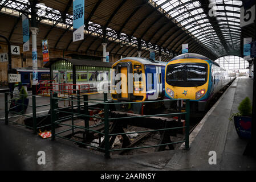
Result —
<instances>
[{"instance_id":1,"label":"white pillar with blue poster beside the number 4 sign","mask_svg":"<svg viewBox=\"0 0 256 182\"><path fill-rule=\"evenodd\" d=\"M33 81L32 86L38 83L38 64L37 64L37 49L36 49L36 36L38 34L38 28L31 27L32 32L32 69L33 69Z\"/></svg>"}]
</instances>

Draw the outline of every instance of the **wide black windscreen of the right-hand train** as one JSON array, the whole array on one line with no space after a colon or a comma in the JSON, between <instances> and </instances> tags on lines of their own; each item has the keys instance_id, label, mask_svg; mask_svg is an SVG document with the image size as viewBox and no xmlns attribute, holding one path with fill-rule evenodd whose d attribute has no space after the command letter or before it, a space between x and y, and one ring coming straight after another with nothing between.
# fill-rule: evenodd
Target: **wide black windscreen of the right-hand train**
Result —
<instances>
[{"instance_id":1,"label":"wide black windscreen of the right-hand train","mask_svg":"<svg viewBox=\"0 0 256 182\"><path fill-rule=\"evenodd\" d=\"M166 82L172 86L201 86L207 81L208 66L204 63L170 64Z\"/></svg>"}]
</instances>

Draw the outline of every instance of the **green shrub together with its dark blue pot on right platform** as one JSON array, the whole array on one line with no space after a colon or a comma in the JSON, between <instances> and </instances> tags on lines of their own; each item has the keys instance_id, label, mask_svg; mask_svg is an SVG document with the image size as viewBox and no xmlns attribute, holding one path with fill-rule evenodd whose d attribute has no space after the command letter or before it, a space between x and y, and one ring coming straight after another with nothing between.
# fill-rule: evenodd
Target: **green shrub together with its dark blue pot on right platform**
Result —
<instances>
[{"instance_id":1,"label":"green shrub together with its dark blue pot on right platform","mask_svg":"<svg viewBox=\"0 0 256 182\"><path fill-rule=\"evenodd\" d=\"M238 106L238 113L233 113L229 118L234 121L235 130L240 138L251 138L252 106L249 97L246 97Z\"/></svg>"}]
</instances>

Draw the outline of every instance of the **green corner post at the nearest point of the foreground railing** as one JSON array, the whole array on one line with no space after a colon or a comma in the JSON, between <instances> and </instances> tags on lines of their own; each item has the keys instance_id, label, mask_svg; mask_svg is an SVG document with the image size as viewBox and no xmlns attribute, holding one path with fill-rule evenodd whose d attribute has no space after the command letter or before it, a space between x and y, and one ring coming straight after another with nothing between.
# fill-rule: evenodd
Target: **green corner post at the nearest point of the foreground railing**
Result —
<instances>
[{"instance_id":1,"label":"green corner post at the nearest point of the foreground railing","mask_svg":"<svg viewBox=\"0 0 256 182\"><path fill-rule=\"evenodd\" d=\"M110 158L109 154L109 105L104 104L104 123L105 123L105 158Z\"/></svg>"}]
</instances>

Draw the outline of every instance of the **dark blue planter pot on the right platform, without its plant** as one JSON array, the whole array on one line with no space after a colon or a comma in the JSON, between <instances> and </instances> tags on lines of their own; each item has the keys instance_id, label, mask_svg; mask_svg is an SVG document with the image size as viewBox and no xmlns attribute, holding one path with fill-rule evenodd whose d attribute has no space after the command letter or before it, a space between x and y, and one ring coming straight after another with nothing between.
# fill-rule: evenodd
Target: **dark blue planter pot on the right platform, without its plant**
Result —
<instances>
[{"instance_id":1,"label":"dark blue planter pot on the right platform, without its plant","mask_svg":"<svg viewBox=\"0 0 256 182\"><path fill-rule=\"evenodd\" d=\"M234 116L234 124L240 138L251 138L251 117Z\"/></svg>"}]
</instances>

